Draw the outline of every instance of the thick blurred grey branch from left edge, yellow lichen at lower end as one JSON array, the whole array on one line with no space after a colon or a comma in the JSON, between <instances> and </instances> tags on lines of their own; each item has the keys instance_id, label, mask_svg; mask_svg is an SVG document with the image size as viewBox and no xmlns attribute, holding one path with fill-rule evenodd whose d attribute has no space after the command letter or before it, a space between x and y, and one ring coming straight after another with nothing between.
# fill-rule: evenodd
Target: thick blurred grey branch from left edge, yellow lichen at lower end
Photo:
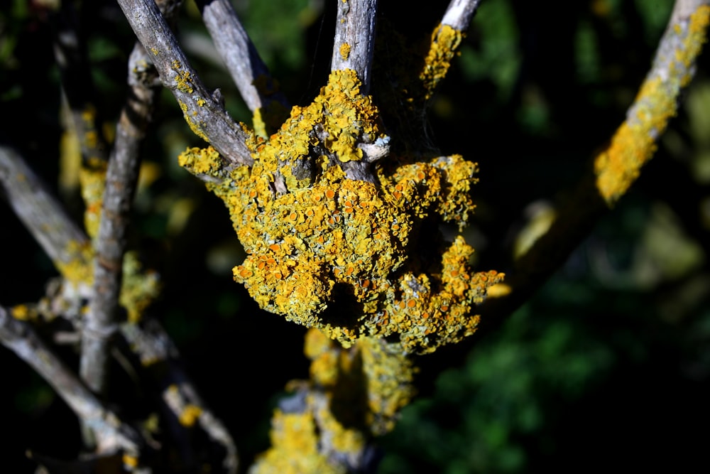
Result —
<instances>
[{"instance_id":1,"label":"thick blurred grey branch from left edge, yellow lichen at lower end","mask_svg":"<svg viewBox=\"0 0 710 474\"><path fill-rule=\"evenodd\" d=\"M69 273L67 278L75 276L72 269L88 267L89 240L84 232L23 158L7 146L0 146L0 185L13 211L58 269Z\"/></svg>"}]
</instances>

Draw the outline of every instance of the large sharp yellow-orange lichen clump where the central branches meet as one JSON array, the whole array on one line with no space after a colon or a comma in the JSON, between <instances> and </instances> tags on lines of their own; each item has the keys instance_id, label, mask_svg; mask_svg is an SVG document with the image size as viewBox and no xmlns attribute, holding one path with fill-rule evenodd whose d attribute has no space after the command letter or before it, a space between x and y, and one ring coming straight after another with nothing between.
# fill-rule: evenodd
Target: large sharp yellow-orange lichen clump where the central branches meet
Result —
<instances>
[{"instance_id":1,"label":"large sharp yellow-orange lichen clump where the central branches meet","mask_svg":"<svg viewBox=\"0 0 710 474\"><path fill-rule=\"evenodd\" d=\"M431 352L473 333L471 311L502 275L472 271L473 249L461 237L432 272L420 268L410 255L417 227L434 216L466 222L478 170L457 155L398 157L400 166L371 171L374 182L346 176L351 163L368 162L367 144L384 141L371 97L354 71L340 70L268 141L252 135L251 170L219 168L211 148L188 149L180 164L211 176L247 254L234 279L261 308L346 346L399 335L403 350ZM324 316L334 292L354 299L354 318Z\"/></svg>"}]
</instances>

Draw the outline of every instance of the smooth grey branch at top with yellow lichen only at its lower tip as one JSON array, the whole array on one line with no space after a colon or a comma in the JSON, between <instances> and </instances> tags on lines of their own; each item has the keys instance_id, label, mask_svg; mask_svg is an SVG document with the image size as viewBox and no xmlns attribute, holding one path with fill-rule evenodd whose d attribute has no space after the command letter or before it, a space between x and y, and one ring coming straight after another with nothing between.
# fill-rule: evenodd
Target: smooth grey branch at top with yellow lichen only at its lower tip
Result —
<instances>
[{"instance_id":1,"label":"smooth grey branch at top with yellow lichen only at its lower tip","mask_svg":"<svg viewBox=\"0 0 710 474\"><path fill-rule=\"evenodd\" d=\"M229 0L197 0L219 56L254 114L254 129L268 136L288 116L288 100L259 57Z\"/></svg>"}]
</instances>

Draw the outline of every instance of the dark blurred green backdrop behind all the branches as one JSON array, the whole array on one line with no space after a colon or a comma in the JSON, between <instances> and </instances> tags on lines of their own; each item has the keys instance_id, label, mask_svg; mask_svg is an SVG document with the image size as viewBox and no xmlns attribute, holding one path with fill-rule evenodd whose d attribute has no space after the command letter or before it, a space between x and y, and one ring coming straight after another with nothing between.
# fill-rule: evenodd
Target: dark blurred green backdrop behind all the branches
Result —
<instances>
[{"instance_id":1,"label":"dark blurred green backdrop behind all the branches","mask_svg":"<svg viewBox=\"0 0 710 474\"><path fill-rule=\"evenodd\" d=\"M113 2L86 3L97 106L110 137L134 40ZM293 103L310 102L327 80L332 3L236 1ZM445 2L381 4L415 43L430 34ZM432 101L428 132L443 153L461 153L481 168L477 213L465 231L479 269L510 269L526 209L564 200L621 124L671 7L670 0L483 2ZM52 25L37 1L13 0L0 11L0 137L80 220L77 183L67 171L76 153L61 145ZM192 4L180 37L202 80L220 87L232 116L248 123L229 75L204 48L208 37ZM381 473L707 468L709 71L704 53L638 183L535 297L500 330L474 336L465 361L425 364L421 397L381 440ZM151 313L177 341L248 465L268 446L271 409L285 382L307 377L304 329L259 311L231 280L242 250L226 211L175 159L197 145L166 92L144 147L131 246L163 278ZM0 222L0 303L37 301L56 272L4 204ZM65 404L11 352L0 350L0 367L4 465L31 470L27 449L76 456L77 421ZM129 386L116 376L114 391L122 384Z\"/></svg>"}]
</instances>

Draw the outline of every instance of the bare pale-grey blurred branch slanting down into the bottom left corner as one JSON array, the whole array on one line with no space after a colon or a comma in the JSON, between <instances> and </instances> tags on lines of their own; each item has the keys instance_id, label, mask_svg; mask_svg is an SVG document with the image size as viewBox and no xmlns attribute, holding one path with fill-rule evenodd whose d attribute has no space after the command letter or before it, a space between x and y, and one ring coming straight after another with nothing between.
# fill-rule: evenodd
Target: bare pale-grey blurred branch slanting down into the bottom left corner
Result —
<instances>
[{"instance_id":1,"label":"bare pale-grey blurred branch slanting down into the bottom left corner","mask_svg":"<svg viewBox=\"0 0 710 474\"><path fill-rule=\"evenodd\" d=\"M124 449L137 456L141 437L80 382L59 358L38 338L27 323L13 318L0 306L0 342L15 352L41 375L67 405L96 433L102 451Z\"/></svg>"}]
</instances>

